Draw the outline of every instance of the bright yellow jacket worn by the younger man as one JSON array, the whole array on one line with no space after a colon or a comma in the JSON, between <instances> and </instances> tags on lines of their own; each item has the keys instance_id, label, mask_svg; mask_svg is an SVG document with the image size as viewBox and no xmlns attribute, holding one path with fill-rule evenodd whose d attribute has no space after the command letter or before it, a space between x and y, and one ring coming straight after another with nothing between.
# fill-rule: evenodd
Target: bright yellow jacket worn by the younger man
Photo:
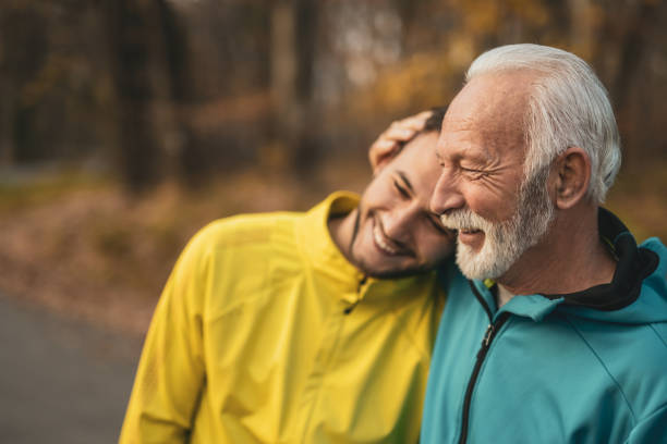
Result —
<instances>
[{"instance_id":1,"label":"bright yellow jacket worn by the younger man","mask_svg":"<svg viewBox=\"0 0 667 444\"><path fill-rule=\"evenodd\" d=\"M306 213L240 215L189 244L146 336L120 442L416 443L444 303L435 273L364 280Z\"/></svg>"}]
</instances>

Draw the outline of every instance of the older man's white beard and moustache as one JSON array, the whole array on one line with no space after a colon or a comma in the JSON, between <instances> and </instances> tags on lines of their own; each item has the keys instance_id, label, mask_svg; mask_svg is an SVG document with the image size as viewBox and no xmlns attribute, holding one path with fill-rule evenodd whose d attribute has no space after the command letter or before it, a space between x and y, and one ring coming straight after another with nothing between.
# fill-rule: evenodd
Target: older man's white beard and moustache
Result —
<instances>
[{"instance_id":1,"label":"older man's white beard and moustache","mask_svg":"<svg viewBox=\"0 0 667 444\"><path fill-rule=\"evenodd\" d=\"M517 211L507 221L490 222L468 209L440 215L448 229L484 232L480 251L457 240L457 264L468 279L502 276L526 249L544 237L555 218L546 189L548 173L548 168L544 168L523 182Z\"/></svg>"}]
</instances>

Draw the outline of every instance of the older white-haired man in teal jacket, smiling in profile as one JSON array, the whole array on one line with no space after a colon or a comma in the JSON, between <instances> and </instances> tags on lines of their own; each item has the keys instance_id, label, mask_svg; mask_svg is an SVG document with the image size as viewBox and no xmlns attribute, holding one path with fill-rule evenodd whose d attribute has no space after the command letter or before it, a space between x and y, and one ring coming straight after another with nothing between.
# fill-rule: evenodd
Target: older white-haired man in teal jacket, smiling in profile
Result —
<instances>
[{"instance_id":1,"label":"older white-haired man in teal jacket, smiling in profile","mask_svg":"<svg viewBox=\"0 0 667 444\"><path fill-rule=\"evenodd\" d=\"M575 55L482 54L438 139L458 231L423 443L667 443L667 250L601 209L620 164Z\"/></svg>"}]
</instances>

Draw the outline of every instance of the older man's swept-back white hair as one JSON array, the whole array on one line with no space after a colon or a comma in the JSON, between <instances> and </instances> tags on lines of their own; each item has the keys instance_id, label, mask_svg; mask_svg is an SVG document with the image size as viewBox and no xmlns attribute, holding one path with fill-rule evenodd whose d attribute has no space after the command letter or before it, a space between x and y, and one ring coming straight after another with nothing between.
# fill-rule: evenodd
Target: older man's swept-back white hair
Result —
<instances>
[{"instance_id":1,"label":"older man's swept-back white hair","mask_svg":"<svg viewBox=\"0 0 667 444\"><path fill-rule=\"evenodd\" d=\"M591 159L586 196L602 203L621 163L620 137L607 90L579 57L530 44L483 53L470 65L465 81L513 70L537 74L523 122L529 147L525 176L548 165L569 147L580 147Z\"/></svg>"}]
</instances>

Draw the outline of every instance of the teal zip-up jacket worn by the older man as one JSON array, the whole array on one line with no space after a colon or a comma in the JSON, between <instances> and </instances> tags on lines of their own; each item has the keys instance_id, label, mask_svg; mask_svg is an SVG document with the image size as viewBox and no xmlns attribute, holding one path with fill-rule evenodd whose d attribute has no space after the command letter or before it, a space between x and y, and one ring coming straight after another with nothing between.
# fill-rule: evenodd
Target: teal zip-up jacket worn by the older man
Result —
<instances>
[{"instance_id":1,"label":"teal zip-up jacket worn by the older man","mask_svg":"<svg viewBox=\"0 0 667 444\"><path fill-rule=\"evenodd\" d=\"M456 267L440 320L421 442L667 443L667 248L640 247L601 210L614 280L512 298Z\"/></svg>"}]
</instances>

